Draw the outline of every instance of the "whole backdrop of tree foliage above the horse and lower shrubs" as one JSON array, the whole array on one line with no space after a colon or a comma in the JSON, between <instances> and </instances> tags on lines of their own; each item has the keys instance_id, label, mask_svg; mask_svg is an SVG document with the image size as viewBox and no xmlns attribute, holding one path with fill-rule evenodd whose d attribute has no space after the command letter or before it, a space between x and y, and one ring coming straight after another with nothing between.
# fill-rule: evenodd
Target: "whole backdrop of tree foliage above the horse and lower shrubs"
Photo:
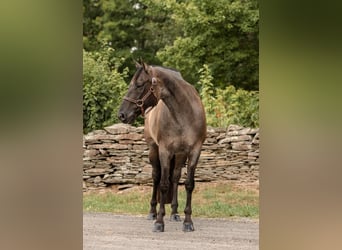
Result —
<instances>
[{"instance_id":1,"label":"whole backdrop of tree foliage above the horse and lower shrubs","mask_svg":"<svg viewBox=\"0 0 342 250\"><path fill-rule=\"evenodd\" d=\"M178 69L190 83L207 64L215 87L257 90L258 8L257 0L84 0L83 44L97 51L106 41L128 77L132 59L142 57Z\"/></svg>"}]
</instances>

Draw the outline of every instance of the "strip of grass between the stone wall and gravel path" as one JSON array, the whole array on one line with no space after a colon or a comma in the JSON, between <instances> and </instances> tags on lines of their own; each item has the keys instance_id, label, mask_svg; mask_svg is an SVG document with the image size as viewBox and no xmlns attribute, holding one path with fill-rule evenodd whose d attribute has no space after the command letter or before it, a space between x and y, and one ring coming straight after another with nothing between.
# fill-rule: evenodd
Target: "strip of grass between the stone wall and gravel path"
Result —
<instances>
[{"instance_id":1,"label":"strip of grass between the stone wall and gravel path","mask_svg":"<svg viewBox=\"0 0 342 250\"><path fill-rule=\"evenodd\" d=\"M186 192L179 186L178 212L182 215ZM118 214L147 215L151 199L150 187L136 187L124 192L85 193L83 210ZM255 189L232 186L227 183L196 183L192 195L192 213L196 217L259 218L259 194ZM170 215L170 205L166 214Z\"/></svg>"}]
</instances>

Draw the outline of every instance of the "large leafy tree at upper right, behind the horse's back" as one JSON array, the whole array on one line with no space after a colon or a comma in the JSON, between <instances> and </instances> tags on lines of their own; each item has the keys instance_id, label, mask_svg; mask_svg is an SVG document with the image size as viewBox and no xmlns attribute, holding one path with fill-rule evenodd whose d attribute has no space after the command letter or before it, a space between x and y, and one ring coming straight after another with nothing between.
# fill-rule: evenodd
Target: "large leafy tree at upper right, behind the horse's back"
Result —
<instances>
[{"instance_id":1,"label":"large leafy tree at upper right, behind the horse's back","mask_svg":"<svg viewBox=\"0 0 342 250\"><path fill-rule=\"evenodd\" d=\"M158 58L196 83L203 64L215 85L258 89L258 4L255 0L168 1L182 36L161 48Z\"/></svg>"}]
</instances>

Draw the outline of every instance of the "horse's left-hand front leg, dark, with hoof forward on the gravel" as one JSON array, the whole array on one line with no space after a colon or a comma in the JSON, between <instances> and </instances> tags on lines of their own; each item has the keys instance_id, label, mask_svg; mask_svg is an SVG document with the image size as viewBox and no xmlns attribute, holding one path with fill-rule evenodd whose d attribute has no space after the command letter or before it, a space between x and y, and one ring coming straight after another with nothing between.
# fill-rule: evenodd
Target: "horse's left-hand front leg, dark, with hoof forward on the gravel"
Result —
<instances>
[{"instance_id":1,"label":"horse's left-hand front leg, dark, with hoof forward on the gravel","mask_svg":"<svg viewBox=\"0 0 342 250\"><path fill-rule=\"evenodd\" d=\"M161 153L162 152L162 153ZM160 176L160 204L157 220L154 223L153 232L164 232L164 216L165 216L165 202L169 191L169 175L170 175L170 160L171 155L166 150L159 151L159 160L161 167Z\"/></svg>"}]
</instances>

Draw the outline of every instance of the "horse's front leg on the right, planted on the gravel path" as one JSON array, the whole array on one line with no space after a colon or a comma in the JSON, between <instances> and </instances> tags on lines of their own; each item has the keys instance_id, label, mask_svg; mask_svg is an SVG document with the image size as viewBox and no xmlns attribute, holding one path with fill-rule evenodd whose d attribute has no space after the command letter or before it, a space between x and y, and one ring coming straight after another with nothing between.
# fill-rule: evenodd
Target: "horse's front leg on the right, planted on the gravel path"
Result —
<instances>
[{"instance_id":1,"label":"horse's front leg on the right, planted on the gravel path","mask_svg":"<svg viewBox=\"0 0 342 250\"><path fill-rule=\"evenodd\" d=\"M189 155L189 162L187 166L187 179L185 181L185 189L186 189L186 205L184 209L185 219L183 222L183 231L184 232L192 232L195 230L193 222L191 220L192 208L191 208L191 200L192 200L192 191L195 188L195 170L197 166L197 162L200 156L201 150L192 151Z\"/></svg>"}]
</instances>

